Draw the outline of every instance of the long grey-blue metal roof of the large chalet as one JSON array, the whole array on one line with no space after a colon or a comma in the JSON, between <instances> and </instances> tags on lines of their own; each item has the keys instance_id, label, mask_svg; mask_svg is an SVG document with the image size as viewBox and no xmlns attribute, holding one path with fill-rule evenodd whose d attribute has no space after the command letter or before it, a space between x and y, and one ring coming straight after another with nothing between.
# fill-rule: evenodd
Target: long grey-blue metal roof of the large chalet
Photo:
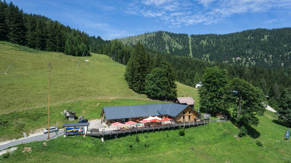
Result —
<instances>
[{"instance_id":1,"label":"long grey-blue metal roof of the large chalet","mask_svg":"<svg viewBox=\"0 0 291 163\"><path fill-rule=\"evenodd\" d=\"M103 107L107 120L125 119L134 117L169 115L177 116L188 105L182 104L148 104Z\"/></svg>"}]
</instances>

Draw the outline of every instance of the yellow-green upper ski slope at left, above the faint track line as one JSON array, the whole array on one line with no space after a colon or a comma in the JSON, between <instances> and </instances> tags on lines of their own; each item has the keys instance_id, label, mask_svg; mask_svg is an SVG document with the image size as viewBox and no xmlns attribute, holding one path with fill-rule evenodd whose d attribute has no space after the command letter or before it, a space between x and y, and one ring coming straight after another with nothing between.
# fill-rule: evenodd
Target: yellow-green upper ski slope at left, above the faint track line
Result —
<instances>
[{"instance_id":1,"label":"yellow-green upper ski slope at left, above the faint track line","mask_svg":"<svg viewBox=\"0 0 291 163\"><path fill-rule=\"evenodd\" d=\"M63 53L36 51L0 42L0 109L2 113L47 105L48 63L51 62L52 104L76 99L122 98L148 100L129 89L125 67L106 55L92 54L84 59ZM77 68L79 59L80 67ZM5 75L10 63L9 74Z\"/></svg>"}]
</instances>

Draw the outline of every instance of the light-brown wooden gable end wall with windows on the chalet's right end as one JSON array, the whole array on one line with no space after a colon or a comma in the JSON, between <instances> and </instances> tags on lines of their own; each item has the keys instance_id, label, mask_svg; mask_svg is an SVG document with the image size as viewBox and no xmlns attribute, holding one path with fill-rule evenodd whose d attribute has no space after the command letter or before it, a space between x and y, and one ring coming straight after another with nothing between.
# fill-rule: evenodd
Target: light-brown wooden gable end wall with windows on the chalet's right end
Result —
<instances>
[{"instance_id":1,"label":"light-brown wooden gable end wall with windows on the chalet's right end","mask_svg":"<svg viewBox=\"0 0 291 163\"><path fill-rule=\"evenodd\" d=\"M198 112L188 106L175 117L175 122L194 121L194 118L198 118L199 115Z\"/></svg>"}]
</instances>

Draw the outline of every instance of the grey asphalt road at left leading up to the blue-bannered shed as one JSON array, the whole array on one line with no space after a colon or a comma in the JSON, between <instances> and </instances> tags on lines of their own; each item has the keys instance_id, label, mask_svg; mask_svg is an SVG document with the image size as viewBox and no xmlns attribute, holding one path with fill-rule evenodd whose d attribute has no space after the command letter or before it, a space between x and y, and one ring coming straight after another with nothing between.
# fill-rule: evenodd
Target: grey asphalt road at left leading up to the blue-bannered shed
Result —
<instances>
[{"instance_id":1,"label":"grey asphalt road at left leading up to the blue-bannered shed","mask_svg":"<svg viewBox=\"0 0 291 163\"><path fill-rule=\"evenodd\" d=\"M63 136L63 135L64 135L64 129L60 129L58 131L57 137ZM37 136L30 137L30 138L25 138L25 139L21 139L21 140L15 140L13 142L9 142L7 144L1 145L0 146L0 151L1 150L6 150L9 147L17 146L17 145L22 144L22 143L46 140L47 136L48 136L48 134L42 134L42 135L37 135ZM50 132L50 138L51 139L56 138L55 132Z\"/></svg>"}]
</instances>

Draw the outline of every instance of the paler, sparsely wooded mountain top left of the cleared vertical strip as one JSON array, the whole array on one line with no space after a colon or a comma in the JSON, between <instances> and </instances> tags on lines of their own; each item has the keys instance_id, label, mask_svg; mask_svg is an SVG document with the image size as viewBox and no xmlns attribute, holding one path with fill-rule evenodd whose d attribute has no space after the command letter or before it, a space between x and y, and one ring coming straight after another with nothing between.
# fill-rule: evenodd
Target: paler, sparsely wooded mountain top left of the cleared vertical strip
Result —
<instances>
[{"instance_id":1,"label":"paler, sparsely wooded mountain top left of the cleared vertical strip","mask_svg":"<svg viewBox=\"0 0 291 163\"><path fill-rule=\"evenodd\" d=\"M135 45L138 41L144 44L148 51L160 51L178 56L189 56L188 34L166 31L146 32L138 36L120 38L123 44Z\"/></svg>"}]
</instances>

